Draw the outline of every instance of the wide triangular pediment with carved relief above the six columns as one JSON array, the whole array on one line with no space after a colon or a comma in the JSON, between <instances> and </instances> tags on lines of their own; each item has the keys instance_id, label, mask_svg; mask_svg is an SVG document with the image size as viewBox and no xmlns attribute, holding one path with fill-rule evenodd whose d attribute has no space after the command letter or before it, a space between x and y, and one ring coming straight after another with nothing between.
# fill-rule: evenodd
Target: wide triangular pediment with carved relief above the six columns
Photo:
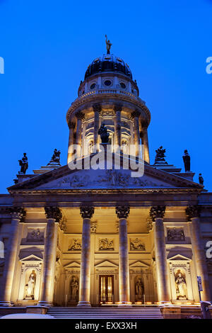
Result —
<instances>
[{"instance_id":1,"label":"wide triangular pediment with carved relief above the six columns","mask_svg":"<svg viewBox=\"0 0 212 333\"><path fill-rule=\"evenodd\" d=\"M114 155L115 156L115 155ZM91 160L91 157L90 157ZM81 159L84 161L84 159ZM184 179L180 176L170 174L166 171L155 169L149 164L139 164L140 174L135 176L134 169L123 169L119 164L111 164L112 169L74 169L68 165L61 166L45 174L33 176L19 184L8 188L10 193L18 190L49 191L49 190L88 190L88 189L171 189L171 188L198 188L203 186ZM129 159L127 159L129 162ZM80 164L78 164L80 166ZM139 175L139 176L138 176Z\"/></svg>"}]
</instances>

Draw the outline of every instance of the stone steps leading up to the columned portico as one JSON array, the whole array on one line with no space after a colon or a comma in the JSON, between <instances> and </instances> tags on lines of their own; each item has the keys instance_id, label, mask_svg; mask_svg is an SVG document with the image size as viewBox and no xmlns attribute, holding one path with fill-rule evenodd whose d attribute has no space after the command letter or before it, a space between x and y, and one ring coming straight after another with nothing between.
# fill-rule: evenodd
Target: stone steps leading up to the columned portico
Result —
<instances>
[{"instance_id":1,"label":"stone steps leading up to the columned portico","mask_svg":"<svg viewBox=\"0 0 212 333\"><path fill-rule=\"evenodd\" d=\"M47 315L64 319L163 319L158 306L49 307Z\"/></svg>"}]
</instances>

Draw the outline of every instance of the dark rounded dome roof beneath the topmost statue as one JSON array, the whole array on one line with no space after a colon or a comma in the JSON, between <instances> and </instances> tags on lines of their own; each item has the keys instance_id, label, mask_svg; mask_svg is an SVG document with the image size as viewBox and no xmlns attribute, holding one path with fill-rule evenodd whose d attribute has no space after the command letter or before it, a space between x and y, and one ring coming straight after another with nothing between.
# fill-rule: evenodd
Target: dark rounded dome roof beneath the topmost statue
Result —
<instances>
[{"instance_id":1,"label":"dark rounded dome roof beneath the topmost statue","mask_svg":"<svg viewBox=\"0 0 212 333\"><path fill-rule=\"evenodd\" d=\"M93 74L101 72L118 72L132 79L131 70L129 69L128 64L126 64L121 58L115 57L114 55L102 55L102 57L98 57L93 60L86 70L85 79Z\"/></svg>"}]
</instances>

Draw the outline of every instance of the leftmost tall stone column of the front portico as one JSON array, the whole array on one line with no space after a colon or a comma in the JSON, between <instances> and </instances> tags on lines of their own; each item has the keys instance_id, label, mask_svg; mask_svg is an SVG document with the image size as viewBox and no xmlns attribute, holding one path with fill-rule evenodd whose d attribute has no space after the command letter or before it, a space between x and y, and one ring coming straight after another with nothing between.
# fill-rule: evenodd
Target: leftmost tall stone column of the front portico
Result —
<instances>
[{"instance_id":1,"label":"leftmost tall stone column of the front portico","mask_svg":"<svg viewBox=\"0 0 212 333\"><path fill-rule=\"evenodd\" d=\"M18 226L24 218L25 210L20 207L11 208L11 230L8 242L8 249L4 263L4 273L2 276L0 306L11 306L11 291L18 251Z\"/></svg>"}]
</instances>

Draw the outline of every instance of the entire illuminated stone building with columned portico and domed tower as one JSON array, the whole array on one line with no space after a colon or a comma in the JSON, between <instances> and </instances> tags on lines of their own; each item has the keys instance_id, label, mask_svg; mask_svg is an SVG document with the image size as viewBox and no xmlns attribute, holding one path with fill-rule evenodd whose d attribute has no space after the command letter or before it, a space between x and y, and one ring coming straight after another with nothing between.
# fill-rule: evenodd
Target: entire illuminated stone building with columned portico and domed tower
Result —
<instances>
[{"instance_id":1,"label":"entire illuminated stone building with columned portico and domed tower","mask_svg":"<svg viewBox=\"0 0 212 333\"><path fill-rule=\"evenodd\" d=\"M67 164L57 149L0 196L0 305L196 304L212 298L212 193L150 164L151 113L128 64L88 66L71 104ZM207 255L208 253L208 255Z\"/></svg>"}]
</instances>

